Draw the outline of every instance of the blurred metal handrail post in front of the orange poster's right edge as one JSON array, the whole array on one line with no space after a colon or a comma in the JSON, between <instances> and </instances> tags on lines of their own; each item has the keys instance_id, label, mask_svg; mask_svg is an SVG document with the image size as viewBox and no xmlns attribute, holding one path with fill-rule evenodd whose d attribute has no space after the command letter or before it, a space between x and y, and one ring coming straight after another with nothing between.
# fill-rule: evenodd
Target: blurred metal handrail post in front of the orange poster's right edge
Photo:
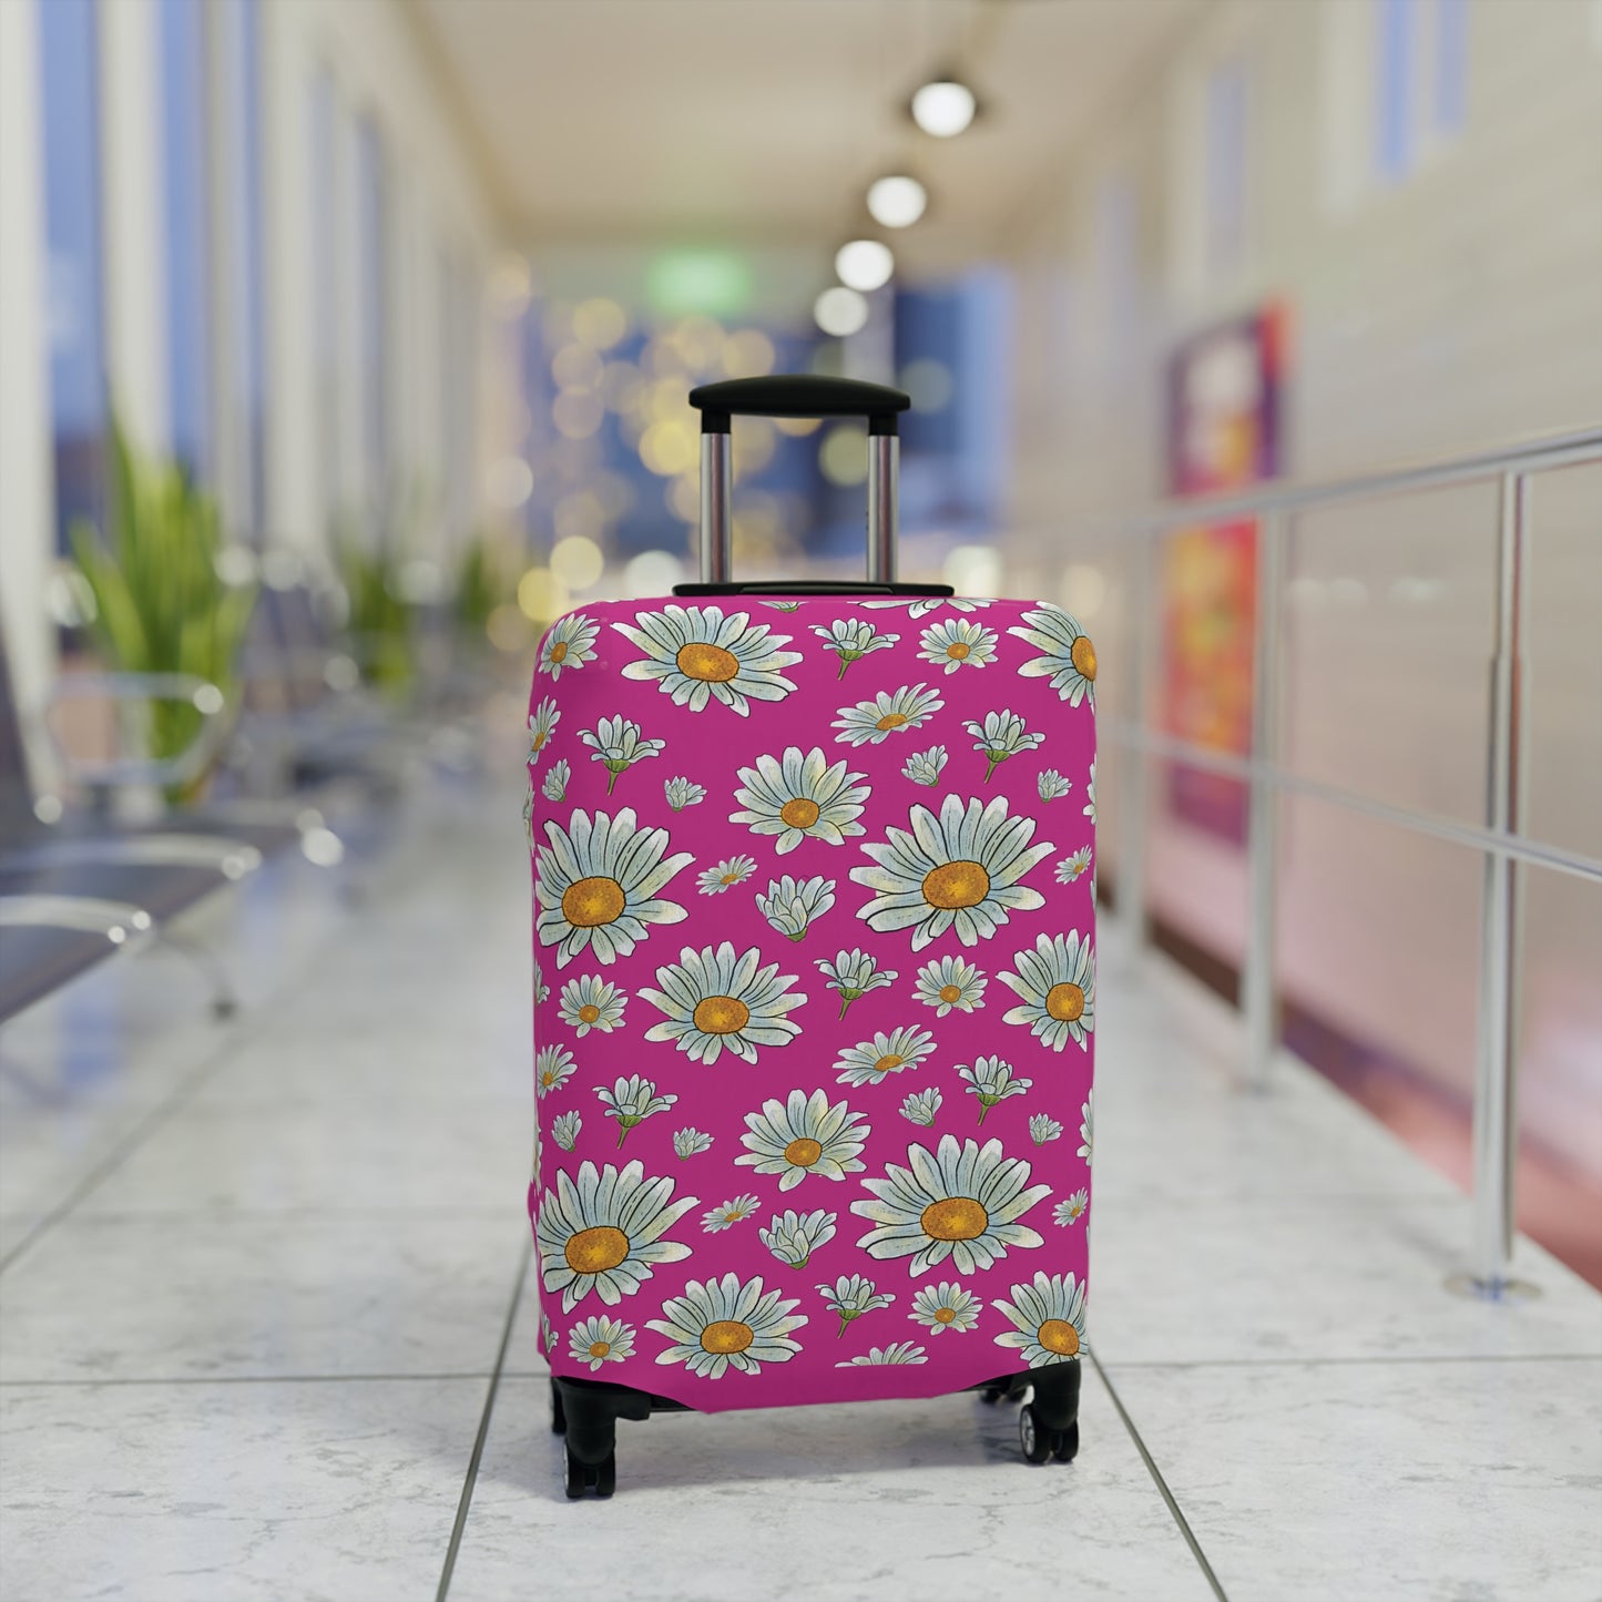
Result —
<instances>
[{"instance_id":1,"label":"blurred metal handrail post in front of the orange poster's right edge","mask_svg":"<svg viewBox=\"0 0 1602 1602\"><path fill-rule=\"evenodd\" d=\"M1280 596L1285 567L1286 514L1269 511L1258 519L1256 631L1251 658L1251 787L1246 814L1246 956L1240 980L1240 1006L1246 1036L1246 1085L1269 1088L1274 1051L1278 1046L1275 1000L1275 934L1278 904L1278 673Z\"/></svg>"}]
</instances>

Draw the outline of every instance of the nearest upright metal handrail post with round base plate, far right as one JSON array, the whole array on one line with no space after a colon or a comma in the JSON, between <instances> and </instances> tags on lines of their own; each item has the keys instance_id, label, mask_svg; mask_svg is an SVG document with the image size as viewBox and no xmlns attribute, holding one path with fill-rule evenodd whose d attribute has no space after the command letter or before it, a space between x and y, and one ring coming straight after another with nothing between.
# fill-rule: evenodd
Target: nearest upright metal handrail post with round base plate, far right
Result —
<instances>
[{"instance_id":1,"label":"nearest upright metal handrail post with round base plate, far right","mask_svg":"<svg viewBox=\"0 0 1602 1602\"><path fill-rule=\"evenodd\" d=\"M1496 527L1496 652L1491 658L1487 823L1524 820L1524 561L1528 479L1503 473ZM1527 1290L1511 1277L1519 1067L1519 863L1485 852L1480 998L1474 1075L1474 1258L1469 1283L1499 1299Z\"/></svg>"}]
</instances>

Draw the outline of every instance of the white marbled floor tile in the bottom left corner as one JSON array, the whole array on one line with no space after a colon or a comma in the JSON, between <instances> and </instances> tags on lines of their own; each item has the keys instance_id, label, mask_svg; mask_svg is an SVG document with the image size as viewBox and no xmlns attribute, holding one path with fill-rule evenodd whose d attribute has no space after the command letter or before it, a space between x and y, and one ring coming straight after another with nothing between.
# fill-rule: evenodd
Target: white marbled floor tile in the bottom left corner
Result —
<instances>
[{"instance_id":1,"label":"white marbled floor tile in the bottom left corner","mask_svg":"<svg viewBox=\"0 0 1602 1602\"><path fill-rule=\"evenodd\" d=\"M482 1379L0 1391L8 1602L431 1597Z\"/></svg>"}]
</instances>

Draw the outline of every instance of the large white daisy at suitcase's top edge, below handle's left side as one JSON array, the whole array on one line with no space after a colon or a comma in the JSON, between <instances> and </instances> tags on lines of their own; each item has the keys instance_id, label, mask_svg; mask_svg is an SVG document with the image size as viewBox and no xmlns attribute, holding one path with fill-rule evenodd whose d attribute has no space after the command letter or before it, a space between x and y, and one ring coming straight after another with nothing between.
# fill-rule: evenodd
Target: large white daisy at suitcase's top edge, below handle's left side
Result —
<instances>
[{"instance_id":1,"label":"large white daisy at suitcase's top edge, below handle's left side","mask_svg":"<svg viewBox=\"0 0 1602 1602\"><path fill-rule=\"evenodd\" d=\"M646 652L644 662L623 668L623 678L655 679L676 706L702 711L719 700L745 718L753 698L783 700L795 689L783 670L799 662L801 652L780 650L790 636L753 623L748 612L726 617L716 606L666 606L612 626Z\"/></svg>"}]
</instances>

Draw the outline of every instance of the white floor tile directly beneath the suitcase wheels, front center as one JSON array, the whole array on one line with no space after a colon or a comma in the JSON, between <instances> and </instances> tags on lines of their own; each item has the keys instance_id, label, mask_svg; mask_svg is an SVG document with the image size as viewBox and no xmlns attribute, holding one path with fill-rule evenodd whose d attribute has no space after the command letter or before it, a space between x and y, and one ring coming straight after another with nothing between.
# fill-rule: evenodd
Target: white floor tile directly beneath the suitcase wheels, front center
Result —
<instances>
[{"instance_id":1,"label":"white floor tile directly beneath the suitcase wheels, front center","mask_svg":"<svg viewBox=\"0 0 1602 1602\"><path fill-rule=\"evenodd\" d=\"M620 1426L610 1503L569 1503L548 1384L508 1379L450 1599L1211 1597L1094 1376L1073 1464L1024 1463L1016 1416L974 1397L663 1415Z\"/></svg>"}]
</instances>

